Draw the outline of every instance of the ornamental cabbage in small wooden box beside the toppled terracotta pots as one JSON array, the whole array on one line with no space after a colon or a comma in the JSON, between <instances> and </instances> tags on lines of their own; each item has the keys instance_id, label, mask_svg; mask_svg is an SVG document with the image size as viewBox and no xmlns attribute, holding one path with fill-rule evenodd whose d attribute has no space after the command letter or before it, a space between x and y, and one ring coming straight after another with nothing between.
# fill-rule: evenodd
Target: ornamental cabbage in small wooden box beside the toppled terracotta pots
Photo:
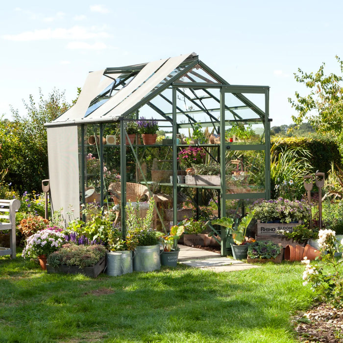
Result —
<instances>
[{"instance_id":1,"label":"ornamental cabbage in small wooden box beside the toppled terracotta pots","mask_svg":"<svg viewBox=\"0 0 343 343\"><path fill-rule=\"evenodd\" d=\"M272 241L256 241L248 246L246 262L269 262L281 263L282 245Z\"/></svg>"}]
</instances>

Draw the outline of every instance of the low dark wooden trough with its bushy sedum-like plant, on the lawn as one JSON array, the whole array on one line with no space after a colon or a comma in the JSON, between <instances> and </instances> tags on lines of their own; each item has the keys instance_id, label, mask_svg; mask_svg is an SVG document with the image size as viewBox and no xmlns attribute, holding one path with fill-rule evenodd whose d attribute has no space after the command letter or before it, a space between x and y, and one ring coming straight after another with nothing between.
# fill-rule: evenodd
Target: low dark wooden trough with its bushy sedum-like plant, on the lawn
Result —
<instances>
[{"instance_id":1,"label":"low dark wooden trough with its bushy sedum-like plant, on the lawn","mask_svg":"<svg viewBox=\"0 0 343 343\"><path fill-rule=\"evenodd\" d=\"M47 259L48 273L81 273L97 277L105 268L104 245L75 245L67 243Z\"/></svg>"}]
</instances>

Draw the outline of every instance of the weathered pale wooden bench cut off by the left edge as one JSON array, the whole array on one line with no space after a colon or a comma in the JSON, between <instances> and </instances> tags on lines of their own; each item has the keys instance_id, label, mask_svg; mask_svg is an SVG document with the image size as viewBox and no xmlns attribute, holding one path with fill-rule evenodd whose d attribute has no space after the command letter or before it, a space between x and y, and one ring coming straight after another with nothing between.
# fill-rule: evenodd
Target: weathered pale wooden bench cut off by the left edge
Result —
<instances>
[{"instance_id":1,"label":"weathered pale wooden bench cut off by the left edge","mask_svg":"<svg viewBox=\"0 0 343 343\"><path fill-rule=\"evenodd\" d=\"M0 199L0 231L9 230L10 247L0 247L0 256L11 255L16 258L16 211L20 208L20 200Z\"/></svg>"}]
</instances>

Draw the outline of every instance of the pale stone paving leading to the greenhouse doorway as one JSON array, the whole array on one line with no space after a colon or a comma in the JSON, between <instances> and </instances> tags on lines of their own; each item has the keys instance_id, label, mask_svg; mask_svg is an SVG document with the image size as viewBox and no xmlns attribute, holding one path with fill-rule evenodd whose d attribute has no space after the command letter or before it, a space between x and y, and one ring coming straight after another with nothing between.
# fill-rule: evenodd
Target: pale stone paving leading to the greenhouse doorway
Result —
<instances>
[{"instance_id":1,"label":"pale stone paving leading to the greenhouse doorway","mask_svg":"<svg viewBox=\"0 0 343 343\"><path fill-rule=\"evenodd\" d=\"M180 252L178 262L190 267L213 270L216 272L246 270L260 267L228 257L222 257L218 252L207 251L185 245L179 245L179 247Z\"/></svg>"}]
</instances>

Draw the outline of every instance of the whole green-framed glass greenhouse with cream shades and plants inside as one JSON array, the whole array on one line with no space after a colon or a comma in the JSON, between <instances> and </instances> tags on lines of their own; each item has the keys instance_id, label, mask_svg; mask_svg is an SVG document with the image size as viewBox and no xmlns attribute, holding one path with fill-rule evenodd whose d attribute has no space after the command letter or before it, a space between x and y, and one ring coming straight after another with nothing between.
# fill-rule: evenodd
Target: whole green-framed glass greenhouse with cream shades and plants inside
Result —
<instances>
[{"instance_id":1,"label":"whole green-framed glass greenhouse with cream shades and plants inside","mask_svg":"<svg viewBox=\"0 0 343 343\"><path fill-rule=\"evenodd\" d=\"M270 198L269 87L231 85L194 52L91 72L46 126L51 206L66 221L93 201L120 221L127 201L144 213L153 199L154 228L168 230L191 208L220 218Z\"/></svg>"}]
</instances>

